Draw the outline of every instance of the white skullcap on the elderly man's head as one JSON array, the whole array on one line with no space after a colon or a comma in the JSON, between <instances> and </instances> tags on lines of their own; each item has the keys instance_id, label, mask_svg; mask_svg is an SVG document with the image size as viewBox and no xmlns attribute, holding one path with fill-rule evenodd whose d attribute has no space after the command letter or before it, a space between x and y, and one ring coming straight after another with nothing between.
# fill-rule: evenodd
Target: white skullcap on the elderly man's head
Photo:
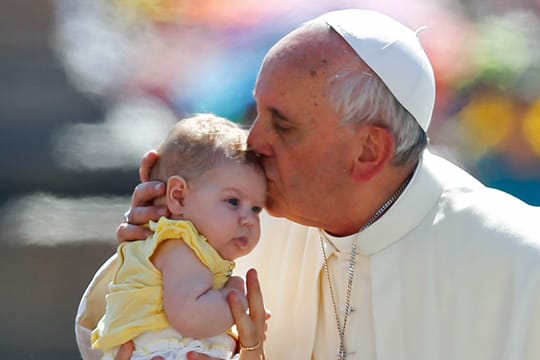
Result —
<instances>
[{"instance_id":1,"label":"white skullcap on the elderly man's head","mask_svg":"<svg viewBox=\"0 0 540 360\"><path fill-rule=\"evenodd\" d=\"M354 49L427 131L435 77L417 32L376 11L348 9L319 17Z\"/></svg>"}]
</instances>

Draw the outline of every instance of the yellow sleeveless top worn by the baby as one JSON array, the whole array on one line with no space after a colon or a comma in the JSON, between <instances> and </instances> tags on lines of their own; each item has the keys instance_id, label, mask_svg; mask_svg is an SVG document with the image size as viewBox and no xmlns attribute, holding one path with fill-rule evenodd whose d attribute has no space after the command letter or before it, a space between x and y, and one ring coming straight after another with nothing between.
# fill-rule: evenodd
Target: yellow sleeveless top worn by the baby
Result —
<instances>
[{"instance_id":1,"label":"yellow sleeveless top worn by the baby","mask_svg":"<svg viewBox=\"0 0 540 360\"><path fill-rule=\"evenodd\" d=\"M92 348L112 349L145 331L170 327L161 272L150 261L161 242L182 239L214 274L214 289L223 288L231 276L234 262L223 259L190 221L162 217L149 226L153 236L118 247L119 266L109 284L105 315L92 332Z\"/></svg>"}]
</instances>

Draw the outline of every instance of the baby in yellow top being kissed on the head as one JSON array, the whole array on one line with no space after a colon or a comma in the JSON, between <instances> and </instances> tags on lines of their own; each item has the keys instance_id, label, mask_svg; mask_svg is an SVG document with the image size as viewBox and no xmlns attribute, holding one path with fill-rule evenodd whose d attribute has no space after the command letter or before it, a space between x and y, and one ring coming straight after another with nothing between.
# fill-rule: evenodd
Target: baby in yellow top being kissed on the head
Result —
<instances>
[{"instance_id":1,"label":"baby in yellow top being kissed on the head","mask_svg":"<svg viewBox=\"0 0 540 360\"><path fill-rule=\"evenodd\" d=\"M236 347L226 297L244 296L231 277L234 259L260 236L266 181L247 131L210 114L179 121L158 149L152 180L167 183L171 216L150 223L154 235L118 247L119 266L109 285L105 315L92 347L114 359L135 344L132 359L185 359L191 351L229 358ZM259 359L262 346L243 344L240 359Z\"/></svg>"}]
</instances>

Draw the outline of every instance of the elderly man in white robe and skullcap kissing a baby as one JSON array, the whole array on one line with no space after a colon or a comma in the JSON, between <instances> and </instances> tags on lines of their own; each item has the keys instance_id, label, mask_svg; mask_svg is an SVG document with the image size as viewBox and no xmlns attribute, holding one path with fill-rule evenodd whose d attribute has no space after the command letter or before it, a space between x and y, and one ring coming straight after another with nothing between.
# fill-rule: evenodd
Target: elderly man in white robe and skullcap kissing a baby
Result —
<instances>
[{"instance_id":1,"label":"elderly man in white robe and skullcap kissing a baby","mask_svg":"<svg viewBox=\"0 0 540 360\"><path fill-rule=\"evenodd\" d=\"M258 269L268 359L540 359L540 210L425 149L435 82L417 35L342 10L264 59L249 143L272 217L239 271ZM120 241L159 217L156 185ZM83 354L110 267L79 309Z\"/></svg>"}]
</instances>

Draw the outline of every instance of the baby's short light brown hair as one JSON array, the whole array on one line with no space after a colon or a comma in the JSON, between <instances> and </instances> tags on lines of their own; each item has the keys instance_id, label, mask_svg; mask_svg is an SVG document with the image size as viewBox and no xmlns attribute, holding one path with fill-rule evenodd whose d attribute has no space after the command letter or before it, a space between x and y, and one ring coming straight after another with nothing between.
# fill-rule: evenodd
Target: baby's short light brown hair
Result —
<instances>
[{"instance_id":1,"label":"baby's short light brown hair","mask_svg":"<svg viewBox=\"0 0 540 360\"><path fill-rule=\"evenodd\" d=\"M213 114L182 119L159 146L150 178L166 182L180 175L189 182L224 161L262 171L258 156L247 149L247 134L238 124Z\"/></svg>"}]
</instances>

